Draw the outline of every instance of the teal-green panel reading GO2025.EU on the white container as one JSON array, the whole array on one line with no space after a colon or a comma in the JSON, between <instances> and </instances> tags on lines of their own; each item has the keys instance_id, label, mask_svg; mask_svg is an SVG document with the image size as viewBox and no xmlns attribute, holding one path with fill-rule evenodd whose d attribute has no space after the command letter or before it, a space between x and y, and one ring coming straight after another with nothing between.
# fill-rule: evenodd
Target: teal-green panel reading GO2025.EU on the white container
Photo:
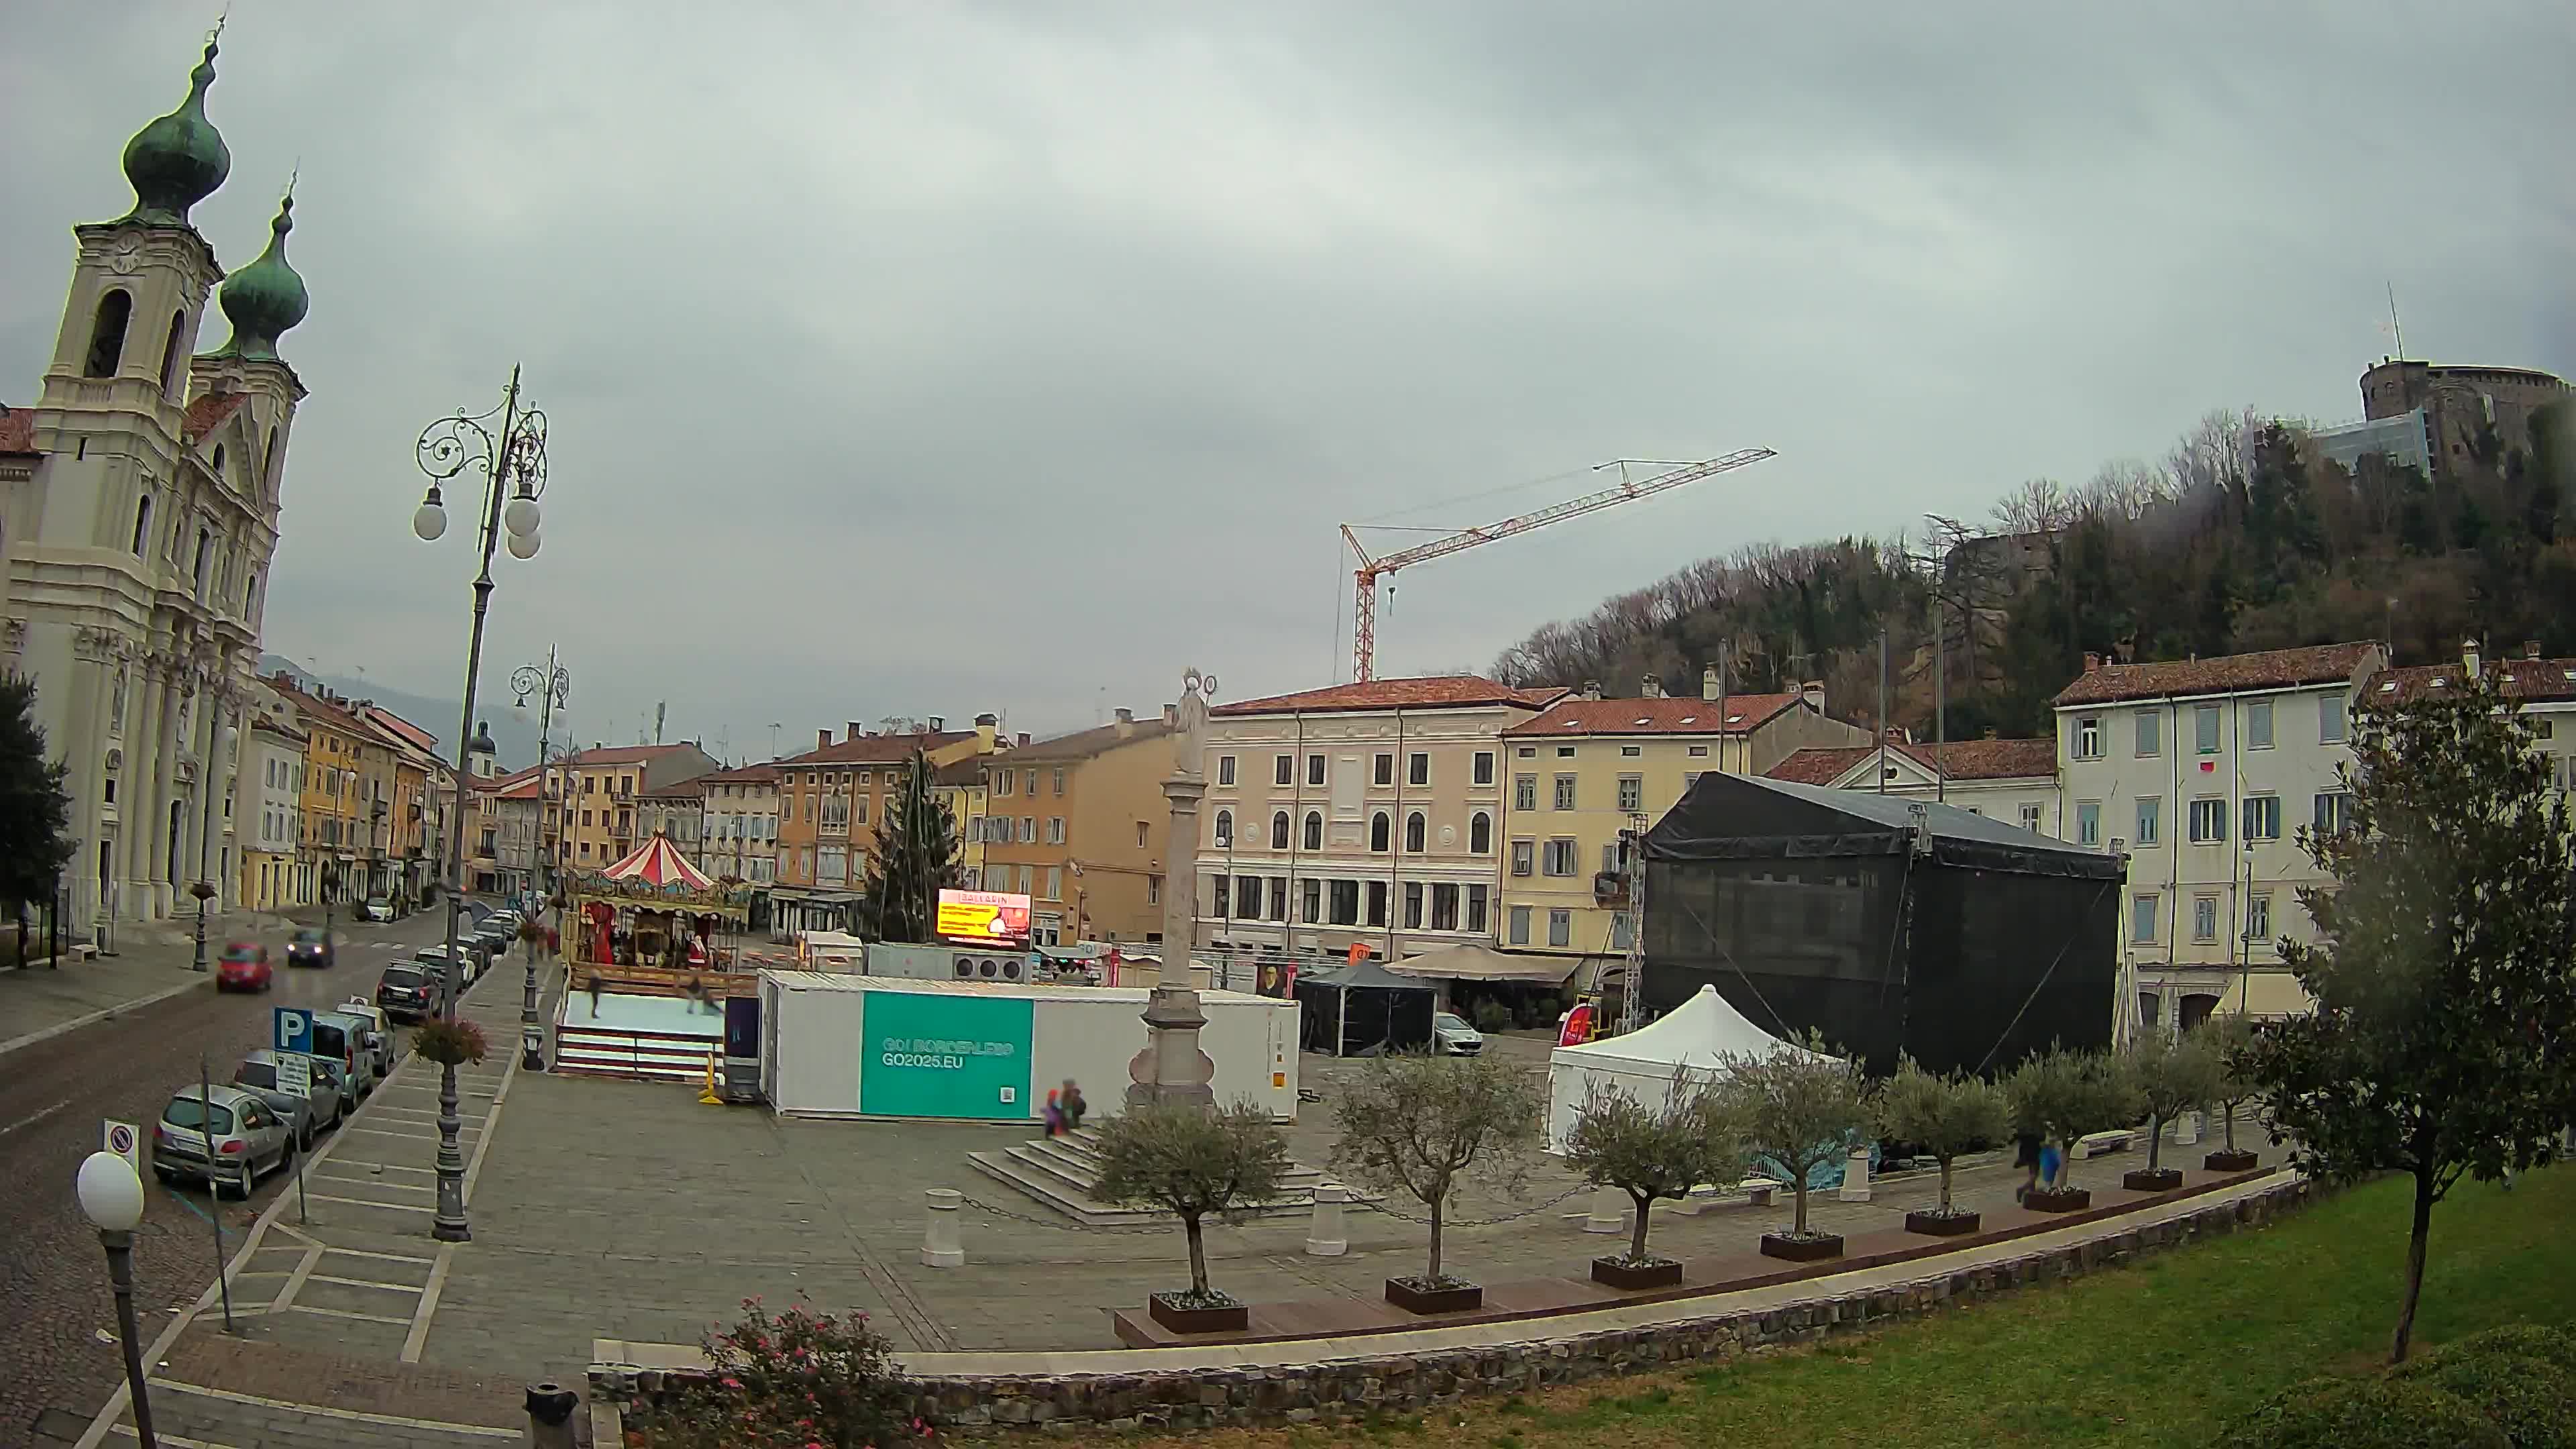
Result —
<instances>
[{"instance_id":1,"label":"teal-green panel reading GO2025.EU on the white container","mask_svg":"<svg viewBox=\"0 0 2576 1449\"><path fill-rule=\"evenodd\" d=\"M871 990L858 1109L873 1116L1028 1116L1036 1003L933 990Z\"/></svg>"}]
</instances>

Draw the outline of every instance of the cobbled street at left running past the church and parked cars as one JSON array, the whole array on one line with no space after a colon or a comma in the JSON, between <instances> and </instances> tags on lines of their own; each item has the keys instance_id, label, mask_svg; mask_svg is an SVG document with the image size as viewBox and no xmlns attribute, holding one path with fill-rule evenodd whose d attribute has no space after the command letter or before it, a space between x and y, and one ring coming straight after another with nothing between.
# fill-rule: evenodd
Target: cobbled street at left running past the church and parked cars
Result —
<instances>
[{"instance_id":1,"label":"cobbled street at left running past the church and parked cars","mask_svg":"<svg viewBox=\"0 0 2576 1449\"><path fill-rule=\"evenodd\" d=\"M276 920L263 926L276 931ZM263 995L219 995L211 977L191 969L193 946L178 944L126 941L118 957L64 962L59 972L0 972L0 1039L116 1008L111 1018L0 1055L0 1220L10 1225L0 1235L0 1323L8 1325L0 1444L57 1434L64 1413L88 1421L124 1382L106 1261L72 1199L72 1173L98 1150L100 1122L149 1129L167 1093L196 1080L201 1055L216 1080L229 1078L242 1052L268 1042L273 1006L330 1006L374 990L376 964L397 949L410 954L410 941L435 928L438 915L425 913L343 933L337 967L281 967L276 990ZM206 938L211 954L227 936L209 926ZM283 933L263 938L283 957ZM178 993L149 1006L124 1006L170 987ZM175 1305L193 1302L214 1279L214 1227L204 1214L224 1222L232 1250L281 1189L283 1173L247 1204L211 1204L204 1189L173 1191L144 1176L134 1307L147 1341L173 1320Z\"/></svg>"}]
</instances>

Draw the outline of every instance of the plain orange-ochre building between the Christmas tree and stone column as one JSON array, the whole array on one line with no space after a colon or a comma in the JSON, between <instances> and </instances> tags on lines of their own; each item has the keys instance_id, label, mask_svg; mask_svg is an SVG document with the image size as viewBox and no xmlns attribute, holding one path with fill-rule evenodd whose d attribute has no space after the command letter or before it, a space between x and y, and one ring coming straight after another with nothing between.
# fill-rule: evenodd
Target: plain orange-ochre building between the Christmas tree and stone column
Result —
<instances>
[{"instance_id":1,"label":"plain orange-ochre building between the Christmas tree and stone column","mask_svg":"<svg viewBox=\"0 0 2576 1449\"><path fill-rule=\"evenodd\" d=\"M1162 941L1172 730L1121 709L984 761L981 879L1030 897L1030 944Z\"/></svg>"}]
</instances>

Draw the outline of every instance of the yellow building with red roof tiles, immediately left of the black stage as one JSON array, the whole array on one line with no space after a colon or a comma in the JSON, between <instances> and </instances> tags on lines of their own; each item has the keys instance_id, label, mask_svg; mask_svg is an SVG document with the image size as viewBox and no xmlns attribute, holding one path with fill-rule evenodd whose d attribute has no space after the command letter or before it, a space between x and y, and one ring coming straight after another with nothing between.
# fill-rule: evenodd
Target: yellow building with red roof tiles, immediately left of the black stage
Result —
<instances>
[{"instance_id":1,"label":"yellow building with red roof tiles, immediately left of the black stage","mask_svg":"<svg viewBox=\"0 0 2576 1449\"><path fill-rule=\"evenodd\" d=\"M1548 704L1502 732L1499 944L1577 969L1628 951L1620 833L1662 817L1703 773L1762 773L1808 748L1865 743L1868 730L1824 712L1824 686L1726 694L1718 670L1700 694L1641 699L1595 688Z\"/></svg>"}]
</instances>

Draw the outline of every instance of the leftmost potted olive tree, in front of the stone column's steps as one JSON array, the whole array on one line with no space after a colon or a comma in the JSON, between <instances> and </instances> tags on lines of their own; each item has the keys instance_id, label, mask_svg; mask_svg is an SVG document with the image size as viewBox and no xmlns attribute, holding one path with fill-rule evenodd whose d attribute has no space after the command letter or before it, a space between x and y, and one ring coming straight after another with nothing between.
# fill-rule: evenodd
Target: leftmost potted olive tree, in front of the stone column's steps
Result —
<instances>
[{"instance_id":1,"label":"leftmost potted olive tree, in front of the stone column's steps","mask_svg":"<svg viewBox=\"0 0 2576 1449\"><path fill-rule=\"evenodd\" d=\"M1172 1333L1242 1333L1249 1310L1208 1287L1208 1214L1231 1222L1288 1176L1288 1137L1270 1111L1239 1101L1221 1111L1139 1106L1100 1124L1100 1201L1159 1207L1190 1240L1190 1292L1151 1294L1146 1312Z\"/></svg>"}]
</instances>

